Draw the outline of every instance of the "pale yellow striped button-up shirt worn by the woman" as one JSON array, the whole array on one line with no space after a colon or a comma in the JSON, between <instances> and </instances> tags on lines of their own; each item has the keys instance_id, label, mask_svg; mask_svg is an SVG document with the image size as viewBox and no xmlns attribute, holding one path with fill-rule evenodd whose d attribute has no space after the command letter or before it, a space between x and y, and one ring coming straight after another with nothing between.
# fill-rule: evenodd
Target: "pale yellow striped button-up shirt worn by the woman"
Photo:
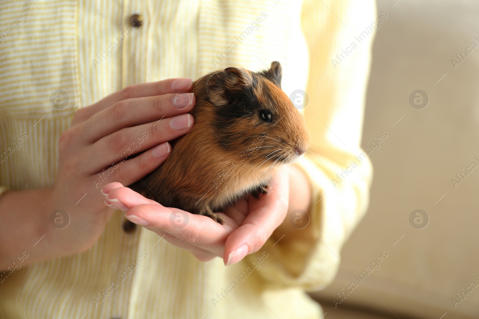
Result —
<instances>
[{"instance_id":1,"label":"pale yellow striped button-up shirt worn by the woman","mask_svg":"<svg viewBox=\"0 0 479 319\"><path fill-rule=\"evenodd\" d=\"M339 64L331 59L375 11L373 0L1 1L0 192L53 186L58 137L78 108L135 83L277 60L286 94L310 97L311 154L299 165L311 181L316 236L269 239L225 267L141 227L125 232L115 214L91 250L0 275L0 318L321 317L305 289L331 282L367 206L367 156L339 184L332 179L362 152L374 35ZM134 13L140 28L129 24Z\"/></svg>"}]
</instances>

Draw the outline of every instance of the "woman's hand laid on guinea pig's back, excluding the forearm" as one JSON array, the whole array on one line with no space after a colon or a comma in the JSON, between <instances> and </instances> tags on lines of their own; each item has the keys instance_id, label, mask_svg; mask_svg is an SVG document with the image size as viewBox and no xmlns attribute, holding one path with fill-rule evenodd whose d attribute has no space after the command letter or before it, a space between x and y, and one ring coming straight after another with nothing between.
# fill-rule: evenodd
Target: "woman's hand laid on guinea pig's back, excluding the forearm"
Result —
<instances>
[{"instance_id":1,"label":"woman's hand laid on guinea pig's back, excluding the forearm","mask_svg":"<svg viewBox=\"0 0 479 319\"><path fill-rule=\"evenodd\" d=\"M127 87L78 110L60 135L52 211L68 207L72 228L79 228L87 245L96 242L112 213L101 187L108 181L129 185L147 175L168 157L168 141L193 126L193 117L184 114L194 106L193 94L176 94L191 87L186 78Z\"/></svg>"}]
</instances>

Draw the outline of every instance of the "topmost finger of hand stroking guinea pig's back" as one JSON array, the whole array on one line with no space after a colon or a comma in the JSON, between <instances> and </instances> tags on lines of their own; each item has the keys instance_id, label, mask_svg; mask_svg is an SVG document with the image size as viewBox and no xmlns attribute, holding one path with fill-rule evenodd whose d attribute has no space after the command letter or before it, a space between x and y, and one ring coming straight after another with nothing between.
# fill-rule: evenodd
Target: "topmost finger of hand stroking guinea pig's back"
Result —
<instances>
[{"instance_id":1,"label":"topmost finger of hand stroking guinea pig's back","mask_svg":"<svg viewBox=\"0 0 479 319\"><path fill-rule=\"evenodd\" d=\"M130 85L104 97L88 107L77 110L72 119L71 127L87 121L93 114L96 114L121 100L163 95L167 93L189 92L192 88L192 83L191 78L180 77L157 82Z\"/></svg>"}]
</instances>

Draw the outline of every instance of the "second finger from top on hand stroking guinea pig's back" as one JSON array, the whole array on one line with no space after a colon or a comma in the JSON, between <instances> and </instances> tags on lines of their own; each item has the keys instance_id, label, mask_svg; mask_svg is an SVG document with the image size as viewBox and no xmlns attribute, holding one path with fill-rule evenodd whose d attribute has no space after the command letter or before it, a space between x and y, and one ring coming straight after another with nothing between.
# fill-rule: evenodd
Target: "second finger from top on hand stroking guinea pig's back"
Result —
<instances>
[{"instance_id":1,"label":"second finger from top on hand stroking guinea pig's back","mask_svg":"<svg viewBox=\"0 0 479 319\"><path fill-rule=\"evenodd\" d=\"M86 143L94 143L125 127L187 113L193 109L194 103L193 93L170 93L121 100L85 121L82 136Z\"/></svg>"}]
</instances>

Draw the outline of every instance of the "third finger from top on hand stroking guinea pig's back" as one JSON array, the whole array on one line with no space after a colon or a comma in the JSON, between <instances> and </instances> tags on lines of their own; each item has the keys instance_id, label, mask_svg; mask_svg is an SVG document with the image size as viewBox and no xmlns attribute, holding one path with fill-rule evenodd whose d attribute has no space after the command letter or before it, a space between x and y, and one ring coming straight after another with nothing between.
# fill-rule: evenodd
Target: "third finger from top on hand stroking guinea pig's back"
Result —
<instances>
[{"instance_id":1,"label":"third finger from top on hand stroking guinea pig's back","mask_svg":"<svg viewBox=\"0 0 479 319\"><path fill-rule=\"evenodd\" d=\"M189 132L193 124L191 114L182 114L114 132L86 148L83 156L97 158L97 162L91 164L86 173L95 174L101 171L105 164L119 163L131 155L180 137ZM124 177L131 180L132 176L134 175Z\"/></svg>"}]
</instances>

